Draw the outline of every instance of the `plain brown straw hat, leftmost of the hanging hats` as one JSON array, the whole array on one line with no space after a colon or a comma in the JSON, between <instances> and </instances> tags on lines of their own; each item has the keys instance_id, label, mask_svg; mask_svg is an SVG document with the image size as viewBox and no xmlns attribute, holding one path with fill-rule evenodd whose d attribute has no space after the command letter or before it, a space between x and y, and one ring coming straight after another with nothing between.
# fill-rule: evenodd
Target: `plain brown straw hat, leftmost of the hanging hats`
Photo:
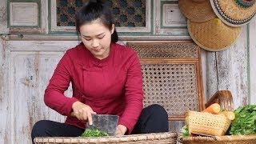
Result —
<instances>
[{"instance_id":1,"label":"plain brown straw hat, leftmost of the hanging hats","mask_svg":"<svg viewBox=\"0 0 256 144\"><path fill-rule=\"evenodd\" d=\"M193 22L206 22L216 17L209 0L179 0L178 6L182 14Z\"/></svg>"}]
</instances>

